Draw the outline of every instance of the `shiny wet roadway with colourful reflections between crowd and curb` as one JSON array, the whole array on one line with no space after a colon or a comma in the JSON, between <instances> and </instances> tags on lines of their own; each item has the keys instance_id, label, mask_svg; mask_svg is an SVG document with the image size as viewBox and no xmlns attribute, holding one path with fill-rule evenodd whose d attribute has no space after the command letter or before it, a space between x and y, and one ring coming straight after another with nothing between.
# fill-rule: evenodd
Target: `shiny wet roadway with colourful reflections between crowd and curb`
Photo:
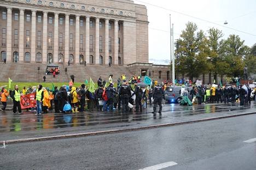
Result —
<instances>
[{"instance_id":1,"label":"shiny wet roadway with colourful reflections between crowd and curb","mask_svg":"<svg viewBox=\"0 0 256 170\"><path fill-rule=\"evenodd\" d=\"M243 108L238 104L206 104L196 106L179 106L166 104L154 119L152 106L141 113L123 115L115 112L84 112L73 114L47 113L40 116L34 112L24 112L13 116L11 111L0 112L0 141L30 137L67 135L72 133L95 132L103 130L122 130L158 124L188 122L206 118L233 116L254 113L256 103Z\"/></svg>"}]
</instances>

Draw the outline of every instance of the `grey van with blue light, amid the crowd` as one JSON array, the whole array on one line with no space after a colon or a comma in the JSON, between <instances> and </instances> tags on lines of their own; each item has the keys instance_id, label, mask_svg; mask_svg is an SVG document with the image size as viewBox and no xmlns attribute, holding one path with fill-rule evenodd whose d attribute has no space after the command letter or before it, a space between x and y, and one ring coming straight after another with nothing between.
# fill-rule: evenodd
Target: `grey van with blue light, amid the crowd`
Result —
<instances>
[{"instance_id":1,"label":"grey van with blue light, amid the crowd","mask_svg":"<svg viewBox=\"0 0 256 170\"><path fill-rule=\"evenodd\" d=\"M192 96L190 95L190 90L192 87L186 87L188 89L189 95L188 98L192 100ZM166 87L165 89L165 100L168 103L181 103L182 96L181 96L181 89L182 87Z\"/></svg>"}]
</instances>

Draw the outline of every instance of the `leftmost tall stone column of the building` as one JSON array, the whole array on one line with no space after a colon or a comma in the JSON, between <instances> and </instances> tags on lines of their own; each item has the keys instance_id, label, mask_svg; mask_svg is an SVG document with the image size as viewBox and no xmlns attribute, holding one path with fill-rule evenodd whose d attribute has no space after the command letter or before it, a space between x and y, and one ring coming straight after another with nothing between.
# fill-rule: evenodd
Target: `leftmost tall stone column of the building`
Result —
<instances>
[{"instance_id":1,"label":"leftmost tall stone column of the building","mask_svg":"<svg viewBox=\"0 0 256 170\"><path fill-rule=\"evenodd\" d=\"M7 8L7 37L6 37L6 60L7 62L10 62L11 59L13 58L12 56L12 51L11 51L11 32L12 32L12 27L11 27L11 22L12 22L12 17L11 17L11 11L12 8Z\"/></svg>"}]
</instances>

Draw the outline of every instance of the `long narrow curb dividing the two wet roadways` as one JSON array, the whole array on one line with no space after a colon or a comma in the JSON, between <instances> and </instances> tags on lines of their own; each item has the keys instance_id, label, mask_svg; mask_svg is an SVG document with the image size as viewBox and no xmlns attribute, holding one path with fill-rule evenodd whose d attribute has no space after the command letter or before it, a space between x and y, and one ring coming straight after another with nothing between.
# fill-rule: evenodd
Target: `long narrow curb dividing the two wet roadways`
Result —
<instances>
[{"instance_id":1,"label":"long narrow curb dividing the two wet roadways","mask_svg":"<svg viewBox=\"0 0 256 170\"><path fill-rule=\"evenodd\" d=\"M158 124L158 125L150 125L150 126L142 126L142 127L134 127L130 129L114 129L114 130L106 130L106 131L95 131L95 132L84 132L84 133L72 133L67 135L57 135L57 136L45 136L45 137L33 137L33 138L23 138L23 139L11 139L7 141L0 141L0 144L13 144L13 143L26 143L26 142L37 142L37 141L49 141L55 139L65 139L65 138L74 138L74 137L86 137L86 136L95 136L95 135L106 135L111 133L121 133L121 132L129 132L129 131L139 131L139 130L147 130L147 129L155 129L158 127L168 127L168 126L176 126L176 125L184 125L190 123L198 123L198 122L206 122L210 120L218 120L232 117L240 117L256 114L256 112L244 113L244 114L235 114L230 116L222 116L222 117L214 117L214 118L205 118L199 120L190 120L187 122L177 122L177 123L166 123L166 124Z\"/></svg>"}]
</instances>

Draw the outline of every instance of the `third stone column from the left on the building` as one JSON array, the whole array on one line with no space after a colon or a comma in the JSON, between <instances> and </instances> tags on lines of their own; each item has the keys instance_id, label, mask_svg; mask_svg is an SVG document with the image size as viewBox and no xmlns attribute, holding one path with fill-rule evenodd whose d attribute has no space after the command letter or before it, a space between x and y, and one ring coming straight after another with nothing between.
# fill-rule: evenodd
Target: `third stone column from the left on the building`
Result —
<instances>
[{"instance_id":1,"label":"third stone column from the left on the building","mask_svg":"<svg viewBox=\"0 0 256 170\"><path fill-rule=\"evenodd\" d=\"M32 10L31 19L31 62L36 62L36 14L37 12Z\"/></svg>"}]
</instances>

